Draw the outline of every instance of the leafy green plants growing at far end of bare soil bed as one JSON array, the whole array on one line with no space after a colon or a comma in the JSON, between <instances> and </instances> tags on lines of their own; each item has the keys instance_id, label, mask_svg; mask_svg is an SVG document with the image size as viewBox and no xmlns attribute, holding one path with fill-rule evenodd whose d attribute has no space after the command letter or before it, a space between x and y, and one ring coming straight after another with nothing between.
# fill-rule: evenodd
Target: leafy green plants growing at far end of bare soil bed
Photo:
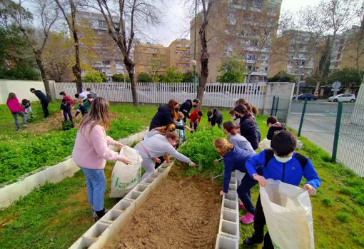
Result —
<instances>
[{"instance_id":1,"label":"leafy green plants growing at far end of bare soil bed","mask_svg":"<svg viewBox=\"0 0 364 249\"><path fill-rule=\"evenodd\" d=\"M224 137L225 134L221 129L213 128L201 128L188 139L188 141L181 146L179 152L188 156L196 166L195 169L190 169L190 175L195 175L198 171L215 171L216 163L214 161L221 156L213 146L213 141L216 138ZM220 166L221 167L221 166Z\"/></svg>"}]
</instances>

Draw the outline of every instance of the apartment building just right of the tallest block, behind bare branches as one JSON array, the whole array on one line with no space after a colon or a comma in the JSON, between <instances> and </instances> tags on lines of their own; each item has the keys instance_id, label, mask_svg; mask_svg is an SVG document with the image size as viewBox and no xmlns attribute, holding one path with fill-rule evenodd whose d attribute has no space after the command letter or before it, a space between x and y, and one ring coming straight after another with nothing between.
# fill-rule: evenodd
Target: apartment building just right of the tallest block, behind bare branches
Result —
<instances>
[{"instance_id":1,"label":"apartment building just right of the tallest block, behind bare branches","mask_svg":"<svg viewBox=\"0 0 364 249\"><path fill-rule=\"evenodd\" d=\"M320 44L320 39L305 31L290 30L278 35L273 41L268 77L286 71L297 79L300 75L299 81L304 81L318 66Z\"/></svg>"}]
</instances>

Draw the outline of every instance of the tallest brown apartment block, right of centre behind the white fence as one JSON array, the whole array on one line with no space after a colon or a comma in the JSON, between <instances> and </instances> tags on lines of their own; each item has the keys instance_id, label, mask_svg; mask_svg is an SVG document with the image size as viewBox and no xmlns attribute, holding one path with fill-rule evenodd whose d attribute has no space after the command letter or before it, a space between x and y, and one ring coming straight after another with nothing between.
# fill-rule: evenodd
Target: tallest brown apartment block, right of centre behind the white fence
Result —
<instances>
[{"instance_id":1,"label":"tallest brown apartment block, right of centre behind the white fence","mask_svg":"<svg viewBox=\"0 0 364 249\"><path fill-rule=\"evenodd\" d=\"M271 56L271 41L275 37L281 0L221 0L208 12L208 81L216 81L218 68L228 56L238 56L246 62L246 79L266 81ZM198 31L203 16L198 14L196 32L197 71L201 72L201 43ZM195 19L190 22L190 54L193 57Z\"/></svg>"}]
</instances>

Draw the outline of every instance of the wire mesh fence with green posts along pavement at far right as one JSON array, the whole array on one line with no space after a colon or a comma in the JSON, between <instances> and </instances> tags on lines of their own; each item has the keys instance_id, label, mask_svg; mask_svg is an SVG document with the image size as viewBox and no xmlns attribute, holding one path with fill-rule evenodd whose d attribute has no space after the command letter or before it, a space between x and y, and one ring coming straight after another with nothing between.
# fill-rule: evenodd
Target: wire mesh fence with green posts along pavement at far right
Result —
<instances>
[{"instance_id":1,"label":"wire mesh fence with green posts along pavement at far right","mask_svg":"<svg viewBox=\"0 0 364 249\"><path fill-rule=\"evenodd\" d=\"M354 103L293 102L287 125L364 176L364 106Z\"/></svg>"}]
</instances>

